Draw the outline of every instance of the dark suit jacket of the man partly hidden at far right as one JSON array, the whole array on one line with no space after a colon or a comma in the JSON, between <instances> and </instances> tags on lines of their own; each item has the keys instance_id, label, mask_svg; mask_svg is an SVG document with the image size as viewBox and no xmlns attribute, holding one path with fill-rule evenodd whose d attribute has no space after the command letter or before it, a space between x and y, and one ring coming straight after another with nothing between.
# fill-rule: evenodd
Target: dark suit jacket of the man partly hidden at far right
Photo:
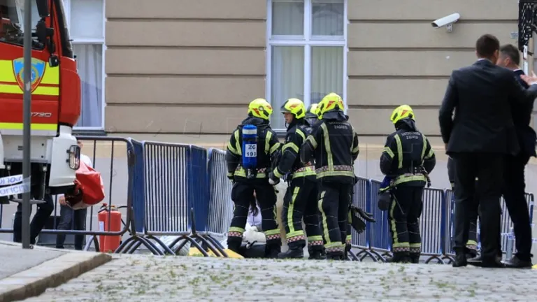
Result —
<instances>
[{"instance_id":1,"label":"dark suit jacket of the man partly hidden at far right","mask_svg":"<svg viewBox=\"0 0 537 302\"><path fill-rule=\"evenodd\" d=\"M519 69L513 72L515 73L515 78L520 82L520 85L524 88L529 88L527 83L520 78L520 75L523 75L524 71ZM511 108L515 131L517 131L517 138L520 143L520 152L529 157L537 157L537 153L535 152L537 135L534 129L529 126L529 122L531 122L531 112L533 110L534 102L529 102L526 106L513 106L513 108Z\"/></svg>"}]
</instances>

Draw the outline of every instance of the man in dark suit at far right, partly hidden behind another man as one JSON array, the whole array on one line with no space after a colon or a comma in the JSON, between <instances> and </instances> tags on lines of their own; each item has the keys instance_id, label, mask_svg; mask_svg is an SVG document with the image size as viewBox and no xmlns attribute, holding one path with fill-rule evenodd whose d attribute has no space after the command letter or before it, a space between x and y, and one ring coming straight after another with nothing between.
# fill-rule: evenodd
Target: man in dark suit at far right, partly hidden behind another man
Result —
<instances>
[{"instance_id":1,"label":"man in dark suit at far right, partly hidden behind another man","mask_svg":"<svg viewBox=\"0 0 537 302\"><path fill-rule=\"evenodd\" d=\"M513 71L515 78L520 85L528 88L521 75L524 71L520 69L520 52L514 45L503 45L500 48L500 55L497 65ZM536 133L529 127L531 111L534 110L534 102L525 105L513 106L511 114L515 124L520 152L516 155L506 157L505 168L503 170L503 198L509 210L511 220L515 229L517 253L506 261L506 265L515 268L531 268L531 222L529 221L529 211L527 201L524 196L526 184L524 181L524 167L530 157L537 157L535 152Z\"/></svg>"}]
</instances>

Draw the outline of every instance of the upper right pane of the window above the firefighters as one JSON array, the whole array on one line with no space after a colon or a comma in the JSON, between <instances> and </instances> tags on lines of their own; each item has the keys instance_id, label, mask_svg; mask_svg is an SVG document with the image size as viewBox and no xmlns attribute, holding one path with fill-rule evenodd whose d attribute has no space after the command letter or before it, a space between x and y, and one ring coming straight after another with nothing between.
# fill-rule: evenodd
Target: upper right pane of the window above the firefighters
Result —
<instances>
[{"instance_id":1,"label":"upper right pane of the window above the firefighters","mask_svg":"<svg viewBox=\"0 0 537 302\"><path fill-rule=\"evenodd\" d=\"M313 0L313 36L343 36L343 0Z\"/></svg>"}]
</instances>

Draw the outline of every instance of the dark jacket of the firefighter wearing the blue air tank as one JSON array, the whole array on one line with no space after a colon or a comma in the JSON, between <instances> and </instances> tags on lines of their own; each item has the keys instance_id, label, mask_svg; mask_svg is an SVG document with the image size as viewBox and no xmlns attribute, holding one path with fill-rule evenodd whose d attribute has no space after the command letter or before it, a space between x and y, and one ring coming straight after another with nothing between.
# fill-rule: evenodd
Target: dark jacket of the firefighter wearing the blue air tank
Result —
<instances>
[{"instance_id":1,"label":"dark jacket of the firefighter wearing the blue air tank","mask_svg":"<svg viewBox=\"0 0 537 302\"><path fill-rule=\"evenodd\" d=\"M271 129L267 120L258 117L248 117L238 125L231 134L227 144L226 161L227 175L234 175L236 181L246 181L246 171L242 167L243 127L253 124L257 127L257 174L256 179L268 178L271 168L271 157L280 150L280 142L275 132Z\"/></svg>"}]
</instances>

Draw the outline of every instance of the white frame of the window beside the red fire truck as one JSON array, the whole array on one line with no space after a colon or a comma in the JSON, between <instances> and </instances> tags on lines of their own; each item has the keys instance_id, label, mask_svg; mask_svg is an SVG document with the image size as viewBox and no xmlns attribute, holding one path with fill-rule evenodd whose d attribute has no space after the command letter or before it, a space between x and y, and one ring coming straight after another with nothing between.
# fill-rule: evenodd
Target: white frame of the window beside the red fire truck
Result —
<instances>
[{"instance_id":1,"label":"white frame of the window beside the red fire truck","mask_svg":"<svg viewBox=\"0 0 537 302\"><path fill-rule=\"evenodd\" d=\"M69 34L71 34L71 43L76 44L98 44L101 45L101 126L74 126L73 130L76 131L103 131L105 130L105 110L106 110L106 99L105 99L105 81L106 81L106 72L105 72L105 52L106 52L106 0L103 1L103 37L102 38L74 38L71 31L71 0L64 0L64 9L65 17L67 22L67 28L69 29ZM75 54L76 55L76 54ZM82 99L80 99L82 101Z\"/></svg>"}]
</instances>

